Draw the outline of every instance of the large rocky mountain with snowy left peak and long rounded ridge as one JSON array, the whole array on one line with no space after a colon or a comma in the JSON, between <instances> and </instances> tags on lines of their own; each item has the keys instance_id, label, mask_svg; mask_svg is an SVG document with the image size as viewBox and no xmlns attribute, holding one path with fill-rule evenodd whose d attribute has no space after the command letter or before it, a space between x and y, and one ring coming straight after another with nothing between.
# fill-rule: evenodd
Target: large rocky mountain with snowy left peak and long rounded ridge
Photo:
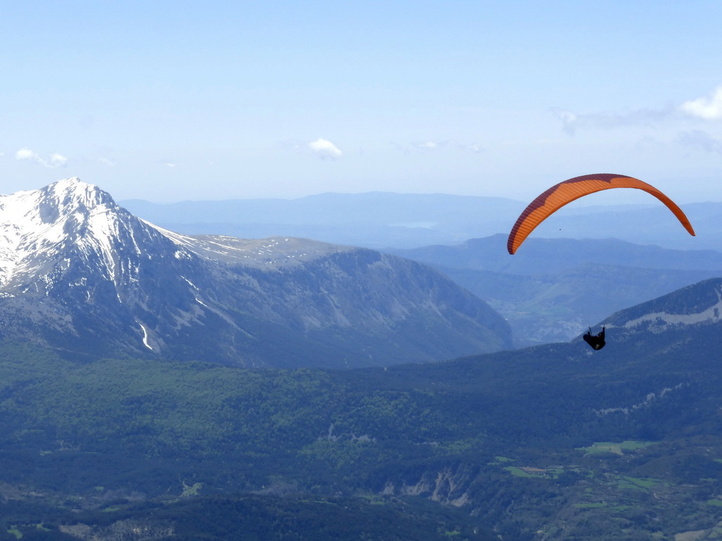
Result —
<instances>
[{"instance_id":1,"label":"large rocky mountain with snowy left peak and long rounded ridge","mask_svg":"<svg viewBox=\"0 0 722 541\"><path fill-rule=\"evenodd\" d=\"M510 347L502 317L425 265L307 239L175 234L77 178L0 197L0 335L238 366Z\"/></svg>"}]
</instances>

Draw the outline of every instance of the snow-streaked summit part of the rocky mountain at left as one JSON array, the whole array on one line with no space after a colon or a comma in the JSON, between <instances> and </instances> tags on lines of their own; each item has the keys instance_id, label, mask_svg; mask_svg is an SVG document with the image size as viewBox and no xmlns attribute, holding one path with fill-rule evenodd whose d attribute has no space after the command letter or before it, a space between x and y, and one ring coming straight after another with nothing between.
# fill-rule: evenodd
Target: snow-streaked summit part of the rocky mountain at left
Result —
<instances>
[{"instance_id":1,"label":"snow-streaked summit part of the rocky mountain at left","mask_svg":"<svg viewBox=\"0 0 722 541\"><path fill-rule=\"evenodd\" d=\"M137 265L127 255L140 255L140 245L149 239L173 242L77 177L1 195L0 287L9 294L8 288L22 289L31 277L36 289L38 278L49 285L53 276L69 270L69 253L117 286L137 278Z\"/></svg>"}]
</instances>

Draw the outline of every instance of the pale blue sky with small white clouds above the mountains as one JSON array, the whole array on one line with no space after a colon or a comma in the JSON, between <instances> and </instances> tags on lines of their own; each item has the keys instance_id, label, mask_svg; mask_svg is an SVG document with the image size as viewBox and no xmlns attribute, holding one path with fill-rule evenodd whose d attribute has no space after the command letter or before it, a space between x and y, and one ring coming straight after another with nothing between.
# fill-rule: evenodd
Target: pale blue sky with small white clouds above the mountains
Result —
<instances>
[{"instance_id":1,"label":"pale blue sky with small white clouds above the mountains","mask_svg":"<svg viewBox=\"0 0 722 541\"><path fill-rule=\"evenodd\" d=\"M722 201L720 21L718 0L16 2L0 192L526 200L615 172Z\"/></svg>"}]
</instances>

